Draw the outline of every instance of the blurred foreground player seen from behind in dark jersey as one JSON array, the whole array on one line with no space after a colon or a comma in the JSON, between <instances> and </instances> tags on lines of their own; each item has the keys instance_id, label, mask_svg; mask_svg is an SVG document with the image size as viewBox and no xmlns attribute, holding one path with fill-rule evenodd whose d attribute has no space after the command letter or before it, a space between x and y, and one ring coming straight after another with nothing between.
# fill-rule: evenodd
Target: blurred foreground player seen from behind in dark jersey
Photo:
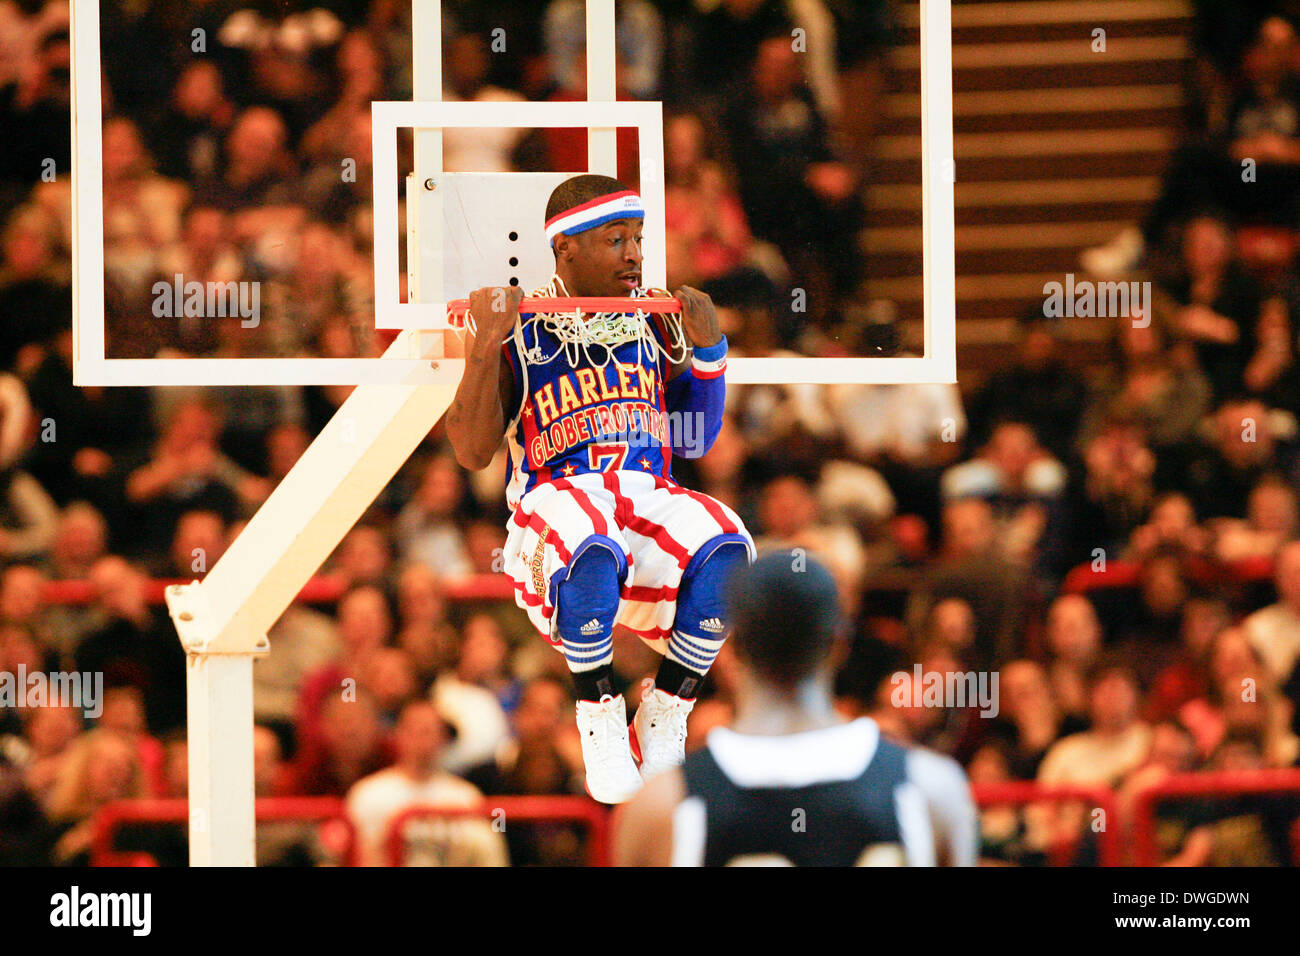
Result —
<instances>
[{"instance_id":1,"label":"blurred foreground player seen from behind in dark jersey","mask_svg":"<svg viewBox=\"0 0 1300 956\"><path fill-rule=\"evenodd\" d=\"M615 864L972 865L975 806L957 762L832 706L829 572L774 551L738 570L729 601L736 719L623 809Z\"/></svg>"}]
</instances>

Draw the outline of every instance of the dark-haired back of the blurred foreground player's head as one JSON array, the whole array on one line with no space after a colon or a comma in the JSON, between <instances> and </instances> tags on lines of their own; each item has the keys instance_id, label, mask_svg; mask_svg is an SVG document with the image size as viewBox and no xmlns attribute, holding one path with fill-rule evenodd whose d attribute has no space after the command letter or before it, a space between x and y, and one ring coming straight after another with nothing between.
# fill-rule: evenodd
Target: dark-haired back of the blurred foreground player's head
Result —
<instances>
[{"instance_id":1,"label":"dark-haired back of the blurred foreground player's head","mask_svg":"<svg viewBox=\"0 0 1300 956\"><path fill-rule=\"evenodd\" d=\"M794 687L831 654L840 602L831 572L801 548L742 564L728 581L732 644L767 680Z\"/></svg>"}]
</instances>

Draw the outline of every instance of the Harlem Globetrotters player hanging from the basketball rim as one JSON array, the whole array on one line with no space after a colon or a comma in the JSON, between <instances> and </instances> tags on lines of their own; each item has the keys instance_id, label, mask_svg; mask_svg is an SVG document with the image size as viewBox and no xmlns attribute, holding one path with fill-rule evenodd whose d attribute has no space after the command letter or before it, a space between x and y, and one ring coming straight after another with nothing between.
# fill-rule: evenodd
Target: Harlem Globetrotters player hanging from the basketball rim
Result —
<instances>
[{"instance_id":1,"label":"Harlem Globetrotters player hanging from the basketball rim","mask_svg":"<svg viewBox=\"0 0 1300 956\"><path fill-rule=\"evenodd\" d=\"M560 183L546 206L555 274L532 294L667 297L641 285L644 219L618 179ZM712 302L689 287L676 297L680 323L632 311L520 315L519 289L477 290L447 412L465 468L486 467L506 436L514 516L503 570L564 653L588 792L608 804L681 763L686 717L728 633L723 581L754 555L729 507L672 479L673 453L699 457L718 436L727 367ZM664 656L630 734L614 685L616 624Z\"/></svg>"}]
</instances>

